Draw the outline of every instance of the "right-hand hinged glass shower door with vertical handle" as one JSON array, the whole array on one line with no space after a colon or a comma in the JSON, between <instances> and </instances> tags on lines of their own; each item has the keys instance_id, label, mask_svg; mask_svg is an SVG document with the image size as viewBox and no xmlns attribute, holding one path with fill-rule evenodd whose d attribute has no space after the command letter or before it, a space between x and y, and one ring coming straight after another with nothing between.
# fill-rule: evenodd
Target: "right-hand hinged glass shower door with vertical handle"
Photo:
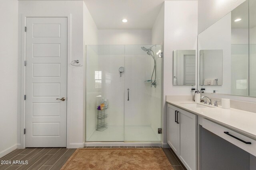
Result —
<instances>
[{"instance_id":1,"label":"right-hand hinged glass shower door with vertical handle","mask_svg":"<svg viewBox=\"0 0 256 170\"><path fill-rule=\"evenodd\" d=\"M162 58L156 53L162 47L153 46L151 51L156 60L156 87L151 82L151 77L155 80L154 59L141 47L152 45L125 45L124 141L160 142Z\"/></svg>"}]
</instances>

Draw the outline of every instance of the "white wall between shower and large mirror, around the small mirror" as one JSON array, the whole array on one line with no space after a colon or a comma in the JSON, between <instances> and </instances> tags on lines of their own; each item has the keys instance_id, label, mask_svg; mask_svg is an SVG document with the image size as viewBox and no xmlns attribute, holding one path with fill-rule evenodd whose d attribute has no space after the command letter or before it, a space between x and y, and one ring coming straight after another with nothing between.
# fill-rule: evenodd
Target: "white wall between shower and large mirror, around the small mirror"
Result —
<instances>
[{"instance_id":1,"label":"white wall between shower and large mirror, around the small mirror","mask_svg":"<svg viewBox=\"0 0 256 170\"><path fill-rule=\"evenodd\" d=\"M163 135L167 143L166 95L192 95L190 86L173 86L174 50L197 49L197 1L164 2L164 95Z\"/></svg>"}]
</instances>

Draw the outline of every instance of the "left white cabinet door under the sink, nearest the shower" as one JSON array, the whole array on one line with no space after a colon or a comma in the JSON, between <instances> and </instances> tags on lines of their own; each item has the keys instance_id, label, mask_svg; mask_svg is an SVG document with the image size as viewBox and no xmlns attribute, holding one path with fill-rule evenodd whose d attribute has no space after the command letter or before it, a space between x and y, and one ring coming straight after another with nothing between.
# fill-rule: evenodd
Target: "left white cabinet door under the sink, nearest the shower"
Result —
<instances>
[{"instance_id":1,"label":"left white cabinet door under the sink, nearest the shower","mask_svg":"<svg viewBox=\"0 0 256 170\"><path fill-rule=\"evenodd\" d=\"M174 152L179 153L178 123L175 122L175 110L168 107L168 144Z\"/></svg>"}]
</instances>

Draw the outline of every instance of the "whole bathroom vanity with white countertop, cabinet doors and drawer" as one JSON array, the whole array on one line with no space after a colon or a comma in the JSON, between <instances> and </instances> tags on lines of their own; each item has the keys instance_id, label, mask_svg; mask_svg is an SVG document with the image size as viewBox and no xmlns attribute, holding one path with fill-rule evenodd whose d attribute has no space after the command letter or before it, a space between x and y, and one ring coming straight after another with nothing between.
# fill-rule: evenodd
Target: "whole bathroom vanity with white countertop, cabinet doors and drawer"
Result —
<instances>
[{"instance_id":1,"label":"whole bathroom vanity with white countertop, cabinet doors and drawer","mask_svg":"<svg viewBox=\"0 0 256 170\"><path fill-rule=\"evenodd\" d=\"M168 103L168 144L188 170L255 170L256 113Z\"/></svg>"}]
</instances>

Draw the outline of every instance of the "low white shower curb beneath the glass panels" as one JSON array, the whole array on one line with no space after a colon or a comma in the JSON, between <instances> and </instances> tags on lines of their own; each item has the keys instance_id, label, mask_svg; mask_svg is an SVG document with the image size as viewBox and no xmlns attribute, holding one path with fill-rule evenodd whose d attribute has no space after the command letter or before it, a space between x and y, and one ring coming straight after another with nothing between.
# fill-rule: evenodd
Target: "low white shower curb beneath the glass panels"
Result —
<instances>
[{"instance_id":1,"label":"low white shower curb beneath the glass panels","mask_svg":"<svg viewBox=\"0 0 256 170\"><path fill-rule=\"evenodd\" d=\"M150 143L150 142L86 142L85 147L117 147L117 146L131 146L131 147L161 147L162 143Z\"/></svg>"}]
</instances>

